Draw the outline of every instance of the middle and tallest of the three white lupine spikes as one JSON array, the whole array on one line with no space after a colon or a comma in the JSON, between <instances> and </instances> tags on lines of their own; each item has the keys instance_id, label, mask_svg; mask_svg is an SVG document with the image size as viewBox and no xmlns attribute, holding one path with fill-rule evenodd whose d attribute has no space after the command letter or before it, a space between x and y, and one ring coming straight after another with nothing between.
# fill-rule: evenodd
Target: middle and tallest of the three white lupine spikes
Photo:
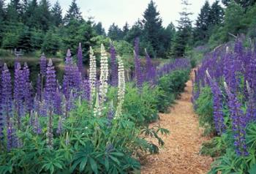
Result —
<instances>
[{"instance_id":1,"label":"middle and tallest of the three white lupine spikes","mask_svg":"<svg viewBox=\"0 0 256 174\"><path fill-rule=\"evenodd\" d=\"M105 102L108 93L108 56L105 47L101 45L100 77L99 77L99 104Z\"/></svg>"}]
</instances>

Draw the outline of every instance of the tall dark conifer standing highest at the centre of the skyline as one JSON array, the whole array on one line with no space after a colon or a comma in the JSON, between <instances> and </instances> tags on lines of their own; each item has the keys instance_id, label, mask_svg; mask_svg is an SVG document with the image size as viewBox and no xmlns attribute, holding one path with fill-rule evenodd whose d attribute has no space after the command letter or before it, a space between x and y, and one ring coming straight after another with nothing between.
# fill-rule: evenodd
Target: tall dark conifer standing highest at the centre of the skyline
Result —
<instances>
[{"instance_id":1,"label":"tall dark conifer standing highest at the centre of the skyline","mask_svg":"<svg viewBox=\"0 0 256 174\"><path fill-rule=\"evenodd\" d=\"M162 19L159 17L157 6L154 1L150 1L146 11L143 13L143 26L145 39L158 54L161 49L160 35L162 34Z\"/></svg>"}]
</instances>

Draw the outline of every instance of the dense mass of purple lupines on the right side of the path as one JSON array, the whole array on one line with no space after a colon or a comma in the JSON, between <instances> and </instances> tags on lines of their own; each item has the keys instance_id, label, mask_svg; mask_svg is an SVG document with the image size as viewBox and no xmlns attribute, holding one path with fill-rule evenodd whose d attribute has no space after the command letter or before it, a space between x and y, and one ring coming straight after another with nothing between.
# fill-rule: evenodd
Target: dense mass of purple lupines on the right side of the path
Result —
<instances>
[{"instance_id":1,"label":"dense mass of purple lupines on the right side of the path","mask_svg":"<svg viewBox=\"0 0 256 174\"><path fill-rule=\"evenodd\" d=\"M238 39L234 49L219 47L213 53L206 54L195 73L195 84L192 99L195 101L200 94L200 88L210 86L214 102L214 122L217 133L225 130L224 105L228 106L235 140L236 152L245 156L246 124L256 121L256 52L245 49ZM207 70L207 71L206 71ZM207 75L208 73L210 75ZM225 92L222 92L225 81ZM246 105L246 107L245 107ZM196 106L195 106L196 107ZM246 113L243 111L246 108Z\"/></svg>"}]
</instances>

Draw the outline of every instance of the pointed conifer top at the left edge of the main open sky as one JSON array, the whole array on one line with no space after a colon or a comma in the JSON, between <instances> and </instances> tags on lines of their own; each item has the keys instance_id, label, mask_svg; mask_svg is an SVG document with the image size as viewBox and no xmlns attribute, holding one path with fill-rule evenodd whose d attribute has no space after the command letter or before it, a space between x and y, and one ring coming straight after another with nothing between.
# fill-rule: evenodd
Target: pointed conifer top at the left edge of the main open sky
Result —
<instances>
[{"instance_id":1,"label":"pointed conifer top at the left edge of the main open sky","mask_svg":"<svg viewBox=\"0 0 256 174\"><path fill-rule=\"evenodd\" d=\"M76 0L72 0L69 10L67 10L67 15L65 15L64 23L69 24L71 20L83 20L82 13L80 12L80 8L78 7Z\"/></svg>"}]
</instances>

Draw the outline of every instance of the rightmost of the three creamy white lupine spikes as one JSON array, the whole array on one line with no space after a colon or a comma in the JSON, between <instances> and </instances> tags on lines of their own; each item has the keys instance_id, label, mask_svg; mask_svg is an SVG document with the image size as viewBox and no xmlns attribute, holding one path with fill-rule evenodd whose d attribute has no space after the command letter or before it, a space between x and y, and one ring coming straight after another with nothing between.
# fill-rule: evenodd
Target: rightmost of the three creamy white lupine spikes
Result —
<instances>
[{"instance_id":1,"label":"rightmost of the three creamy white lupine spikes","mask_svg":"<svg viewBox=\"0 0 256 174\"><path fill-rule=\"evenodd\" d=\"M124 63L120 57L118 57L118 106L116 108L115 118L121 116L121 108L124 103L125 94L125 77L124 77Z\"/></svg>"}]
</instances>

